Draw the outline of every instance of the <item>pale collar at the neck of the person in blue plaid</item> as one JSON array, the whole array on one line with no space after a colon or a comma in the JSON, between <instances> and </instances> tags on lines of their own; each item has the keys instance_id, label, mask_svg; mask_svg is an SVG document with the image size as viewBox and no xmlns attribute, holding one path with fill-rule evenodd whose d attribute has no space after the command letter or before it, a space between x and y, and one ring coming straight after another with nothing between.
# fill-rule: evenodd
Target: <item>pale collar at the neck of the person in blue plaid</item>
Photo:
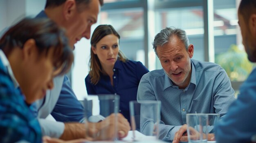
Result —
<instances>
[{"instance_id":1,"label":"pale collar at the neck of the person in blue plaid","mask_svg":"<svg viewBox=\"0 0 256 143\"><path fill-rule=\"evenodd\" d=\"M13 72L11 70L11 65L10 65L7 57L5 56L4 52L1 49L0 49L0 59L1 59L2 63L3 63L3 65L7 68L7 72L9 73L15 88L18 88L18 86L19 86L18 81L14 77Z\"/></svg>"}]
</instances>

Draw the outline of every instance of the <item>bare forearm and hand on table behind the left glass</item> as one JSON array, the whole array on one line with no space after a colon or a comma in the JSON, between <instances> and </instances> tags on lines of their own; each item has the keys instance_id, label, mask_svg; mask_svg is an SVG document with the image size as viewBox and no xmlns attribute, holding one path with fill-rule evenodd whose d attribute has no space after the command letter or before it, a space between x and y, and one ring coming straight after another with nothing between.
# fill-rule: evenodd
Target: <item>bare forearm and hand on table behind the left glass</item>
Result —
<instances>
[{"instance_id":1,"label":"bare forearm and hand on table behind the left glass","mask_svg":"<svg viewBox=\"0 0 256 143\"><path fill-rule=\"evenodd\" d=\"M65 129L60 139L112 140L115 137L115 116L115 114L111 114L105 120L98 123L88 122L87 134L84 123L65 123ZM126 137L129 130L130 123L122 114L117 114L117 137L119 139Z\"/></svg>"}]
</instances>

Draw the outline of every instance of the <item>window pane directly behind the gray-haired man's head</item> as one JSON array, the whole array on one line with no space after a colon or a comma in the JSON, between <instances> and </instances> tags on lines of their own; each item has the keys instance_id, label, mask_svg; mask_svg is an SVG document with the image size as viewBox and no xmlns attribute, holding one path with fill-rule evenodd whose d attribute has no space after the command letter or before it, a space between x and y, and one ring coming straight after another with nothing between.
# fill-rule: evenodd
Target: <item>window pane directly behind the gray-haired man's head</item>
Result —
<instances>
[{"instance_id":1,"label":"window pane directly behind the gray-haired man's head","mask_svg":"<svg viewBox=\"0 0 256 143\"><path fill-rule=\"evenodd\" d=\"M189 42L194 45L193 59L204 61L204 21L202 6L157 9L155 15L155 34L159 33L165 27L170 26L184 29L189 37ZM162 68L157 57L155 68Z\"/></svg>"}]
</instances>

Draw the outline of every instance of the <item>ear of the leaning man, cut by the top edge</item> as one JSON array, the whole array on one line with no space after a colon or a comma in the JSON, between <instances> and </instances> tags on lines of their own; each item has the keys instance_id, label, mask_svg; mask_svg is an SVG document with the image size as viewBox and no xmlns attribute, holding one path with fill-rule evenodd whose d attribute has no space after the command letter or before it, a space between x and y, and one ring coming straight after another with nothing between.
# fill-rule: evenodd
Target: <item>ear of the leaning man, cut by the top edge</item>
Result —
<instances>
[{"instance_id":1,"label":"ear of the leaning man, cut by the top edge","mask_svg":"<svg viewBox=\"0 0 256 143\"><path fill-rule=\"evenodd\" d=\"M66 0L63 6L63 15L65 20L72 18L74 11L76 11L76 1Z\"/></svg>"}]
</instances>

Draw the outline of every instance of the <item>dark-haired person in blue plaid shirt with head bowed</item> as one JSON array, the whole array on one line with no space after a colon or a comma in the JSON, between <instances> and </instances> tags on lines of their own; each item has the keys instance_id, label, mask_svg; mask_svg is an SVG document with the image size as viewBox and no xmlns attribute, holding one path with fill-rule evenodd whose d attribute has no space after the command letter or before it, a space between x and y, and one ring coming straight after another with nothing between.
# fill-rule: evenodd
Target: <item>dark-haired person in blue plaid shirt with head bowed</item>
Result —
<instances>
[{"instance_id":1,"label":"dark-haired person in blue plaid shirt with head bowed","mask_svg":"<svg viewBox=\"0 0 256 143\"><path fill-rule=\"evenodd\" d=\"M41 143L31 103L72 65L65 32L49 19L25 18L0 39L0 143Z\"/></svg>"}]
</instances>

